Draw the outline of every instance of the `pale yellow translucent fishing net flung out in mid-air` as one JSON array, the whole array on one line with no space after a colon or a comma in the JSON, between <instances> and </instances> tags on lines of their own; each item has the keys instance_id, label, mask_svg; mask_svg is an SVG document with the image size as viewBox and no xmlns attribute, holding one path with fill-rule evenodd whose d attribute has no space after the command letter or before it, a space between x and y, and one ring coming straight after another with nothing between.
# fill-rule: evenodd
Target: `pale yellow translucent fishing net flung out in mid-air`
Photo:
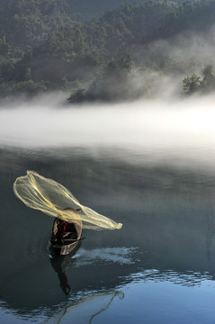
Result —
<instances>
[{"instance_id":1,"label":"pale yellow translucent fishing net flung out in mid-air","mask_svg":"<svg viewBox=\"0 0 215 324\"><path fill-rule=\"evenodd\" d=\"M84 229L121 229L121 223L83 206L62 184L34 171L18 177L13 191L28 207L68 222L82 220Z\"/></svg>"}]
</instances>

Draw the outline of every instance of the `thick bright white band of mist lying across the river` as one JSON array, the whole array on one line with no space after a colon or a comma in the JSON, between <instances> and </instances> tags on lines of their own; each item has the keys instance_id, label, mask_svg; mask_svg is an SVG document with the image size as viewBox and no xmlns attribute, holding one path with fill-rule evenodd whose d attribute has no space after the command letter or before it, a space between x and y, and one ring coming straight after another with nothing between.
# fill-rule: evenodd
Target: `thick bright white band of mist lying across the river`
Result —
<instances>
[{"instance_id":1,"label":"thick bright white band of mist lying across the river","mask_svg":"<svg viewBox=\"0 0 215 324\"><path fill-rule=\"evenodd\" d=\"M215 157L215 95L68 106L44 99L0 110L0 145L21 148L121 148L137 153L201 150Z\"/></svg>"}]
</instances>

